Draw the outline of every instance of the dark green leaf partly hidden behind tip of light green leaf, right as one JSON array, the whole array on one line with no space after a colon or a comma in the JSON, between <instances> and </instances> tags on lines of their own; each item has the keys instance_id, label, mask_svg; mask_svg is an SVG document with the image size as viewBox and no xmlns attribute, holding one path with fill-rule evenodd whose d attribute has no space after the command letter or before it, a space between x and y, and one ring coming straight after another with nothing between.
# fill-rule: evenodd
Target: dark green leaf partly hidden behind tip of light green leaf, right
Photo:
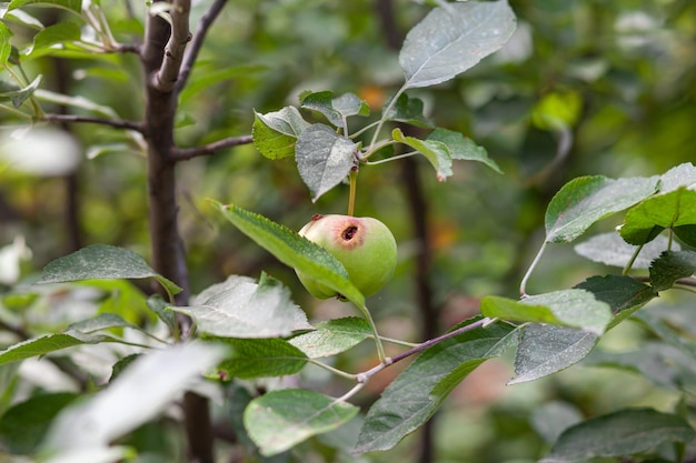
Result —
<instances>
[{"instance_id":1,"label":"dark green leaf partly hidden behind tip of light green leaf, right","mask_svg":"<svg viewBox=\"0 0 696 463\"><path fill-rule=\"evenodd\" d=\"M657 295L647 284L620 275L590 276L576 288L589 291L595 299L609 304L614 319L607 330L616 326Z\"/></svg>"}]
</instances>

